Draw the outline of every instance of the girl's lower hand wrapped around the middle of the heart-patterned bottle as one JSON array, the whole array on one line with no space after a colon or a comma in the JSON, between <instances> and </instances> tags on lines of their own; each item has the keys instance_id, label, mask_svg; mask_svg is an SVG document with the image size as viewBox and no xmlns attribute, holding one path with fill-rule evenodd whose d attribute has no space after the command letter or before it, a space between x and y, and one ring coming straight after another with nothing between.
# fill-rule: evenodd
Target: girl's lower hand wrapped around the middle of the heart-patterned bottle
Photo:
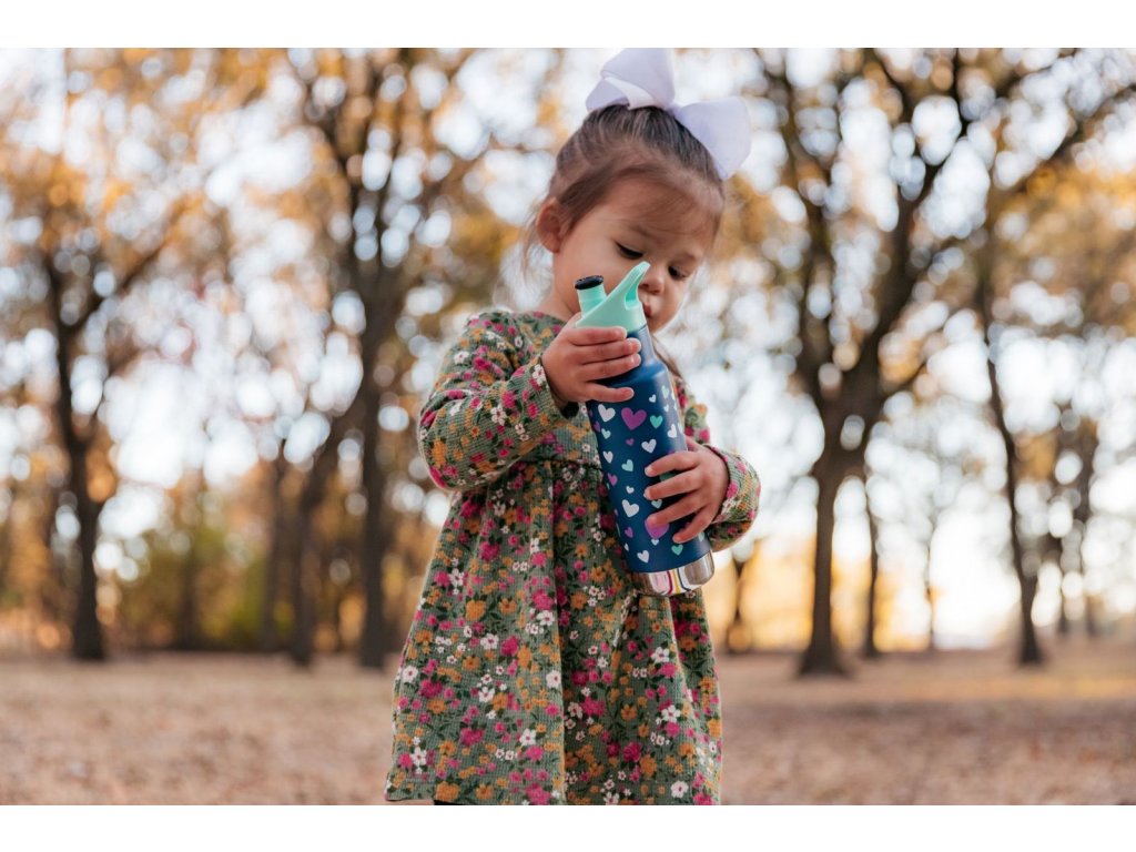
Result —
<instances>
[{"instance_id":1,"label":"girl's lower hand wrapped around the middle of the heart-patterned bottle","mask_svg":"<svg viewBox=\"0 0 1136 852\"><path fill-rule=\"evenodd\" d=\"M721 511L726 487L729 485L729 469L718 453L703 446L690 435L686 436L686 448L685 451L673 452L652 461L644 471L648 476L658 476L670 470L682 471L643 492L643 496L648 500L686 494L682 500L646 519L648 526L661 527L693 515L691 523L675 534L676 544L691 541L710 526L710 521Z\"/></svg>"}]
</instances>

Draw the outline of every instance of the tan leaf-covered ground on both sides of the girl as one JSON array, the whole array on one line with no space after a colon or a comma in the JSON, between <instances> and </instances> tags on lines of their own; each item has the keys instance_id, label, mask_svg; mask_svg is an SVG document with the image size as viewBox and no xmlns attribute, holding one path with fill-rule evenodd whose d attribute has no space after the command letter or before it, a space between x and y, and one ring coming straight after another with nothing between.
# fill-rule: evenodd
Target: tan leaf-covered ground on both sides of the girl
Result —
<instances>
[{"instance_id":1,"label":"tan leaf-covered ground on both sides of the girl","mask_svg":"<svg viewBox=\"0 0 1136 852\"><path fill-rule=\"evenodd\" d=\"M728 804L1136 803L1136 644L721 657ZM381 804L390 673L345 658L0 660L0 804Z\"/></svg>"}]
</instances>

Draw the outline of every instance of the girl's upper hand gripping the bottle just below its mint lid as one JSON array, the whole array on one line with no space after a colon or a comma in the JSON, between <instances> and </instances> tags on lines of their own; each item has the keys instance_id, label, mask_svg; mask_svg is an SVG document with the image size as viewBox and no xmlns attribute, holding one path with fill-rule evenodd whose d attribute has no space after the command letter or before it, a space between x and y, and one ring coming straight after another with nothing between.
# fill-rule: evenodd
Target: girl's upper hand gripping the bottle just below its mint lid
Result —
<instances>
[{"instance_id":1,"label":"girl's upper hand gripping the bottle just below its mint lid","mask_svg":"<svg viewBox=\"0 0 1136 852\"><path fill-rule=\"evenodd\" d=\"M599 379L637 366L640 342L627 340L626 328L577 328L580 316L573 315L541 356L553 398L566 402L626 402L635 395L630 387L608 387Z\"/></svg>"}]
</instances>

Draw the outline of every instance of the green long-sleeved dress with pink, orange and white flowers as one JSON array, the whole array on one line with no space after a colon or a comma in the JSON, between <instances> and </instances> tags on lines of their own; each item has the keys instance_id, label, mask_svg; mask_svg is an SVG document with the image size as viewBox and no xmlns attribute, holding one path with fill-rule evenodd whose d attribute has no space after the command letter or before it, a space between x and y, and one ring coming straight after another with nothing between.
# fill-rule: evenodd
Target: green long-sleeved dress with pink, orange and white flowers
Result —
<instances>
[{"instance_id":1,"label":"green long-sleeved dress with pink, orange and white flowers","mask_svg":"<svg viewBox=\"0 0 1136 852\"><path fill-rule=\"evenodd\" d=\"M565 323L471 317L418 420L434 482L456 492L394 683L387 800L711 804L721 708L701 592L625 578L586 411L552 398L541 354ZM682 379L685 432L710 440ZM715 448L711 448L715 449ZM753 521L740 456L705 534Z\"/></svg>"}]
</instances>

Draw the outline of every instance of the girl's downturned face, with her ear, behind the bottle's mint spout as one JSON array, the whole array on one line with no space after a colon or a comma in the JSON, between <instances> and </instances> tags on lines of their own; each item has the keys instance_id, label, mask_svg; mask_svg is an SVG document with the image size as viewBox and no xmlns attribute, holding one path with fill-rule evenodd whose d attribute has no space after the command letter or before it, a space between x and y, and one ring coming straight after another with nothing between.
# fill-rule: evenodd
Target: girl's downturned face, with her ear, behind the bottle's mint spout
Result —
<instances>
[{"instance_id":1,"label":"girl's downturned face, with her ear, behind the bottle's mint spout","mask_svg":"<svg viewBox=\"0 0 1136 852\"><path fill-rule=\"evenodd\" d=\"M642 178L621 181L567 235L558 233L554 216L545 219L544 214L537 228L552 252L553 282L542 307L567 311L563 319L579 311L579 278L602 275L610 293L632 267L646 260L651 268L640 284L640 301L651 332L665 328L713 241L711 225L693 200Z\"/></svg>"}]
</instances>

